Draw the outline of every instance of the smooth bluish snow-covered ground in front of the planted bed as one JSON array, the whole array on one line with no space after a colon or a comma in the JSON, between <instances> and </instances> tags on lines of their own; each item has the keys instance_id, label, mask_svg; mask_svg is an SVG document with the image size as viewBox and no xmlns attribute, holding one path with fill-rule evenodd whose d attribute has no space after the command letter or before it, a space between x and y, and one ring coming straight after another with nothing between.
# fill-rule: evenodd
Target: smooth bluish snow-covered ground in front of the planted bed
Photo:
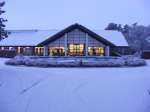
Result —
<instances>
[{"instance_id":1,"label":"smooth bluish snow-covered ground in front of the planted bed","mask_svg":"<svg viewBox=\"0 0 150 112\"><path fill-rule=\"evenodd\" d=\"M149 112L149 66L33 68L0 59L0 112Z\"/></svg>"}]
</instances>

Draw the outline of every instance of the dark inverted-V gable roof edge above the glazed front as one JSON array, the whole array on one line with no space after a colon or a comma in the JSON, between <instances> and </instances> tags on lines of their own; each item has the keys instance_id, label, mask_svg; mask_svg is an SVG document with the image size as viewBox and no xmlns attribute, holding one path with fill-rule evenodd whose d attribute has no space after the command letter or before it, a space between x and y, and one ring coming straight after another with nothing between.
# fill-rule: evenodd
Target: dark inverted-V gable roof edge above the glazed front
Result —
<instances>
[{"instance_id":1,"label":"dark inverted-V gable roof edge above the glazed front","mask_svg":"<svg viewBox=\"0 0 150 112\"><path fill-rule=\"evenodd\" d=\"M104 43L105 45L108 46L115 46L115 44L111 43L110 41L104 39L103 37L99 36L98 34L94 33L93 31L89 30L88 28L79 25L79 24L73 24L67 28L65 28L64 30L56 33L54 36L49 37L48 39L46 39L45 41L41 42L40 44L38 44L39 46L41 45L47 45L55 40L57 40L58 38L60 38L61 36L65 35L65 33L68 33L74 29L80 29L83 32L88 33L90 36L94 37L95 39L101 41L102 43Z\"/></svg>"}]
</instances>

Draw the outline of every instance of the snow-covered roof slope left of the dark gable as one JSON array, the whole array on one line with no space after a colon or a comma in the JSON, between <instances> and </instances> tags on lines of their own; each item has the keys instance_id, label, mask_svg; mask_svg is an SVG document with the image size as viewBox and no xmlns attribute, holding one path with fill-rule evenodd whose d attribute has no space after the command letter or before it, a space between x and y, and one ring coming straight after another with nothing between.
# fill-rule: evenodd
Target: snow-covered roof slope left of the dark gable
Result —
<instances>
[{"instance_id":1,"label":"snow-covered roof slope left of the dark gable","mask_svg":"<svg viewBox=\"0 0 150 112\"><path fill-rule=\"evenodd\" d=\"M0 46L36 46L58 32L58 30L10 30L8 38Z\"/></svg>"}]
</instances>

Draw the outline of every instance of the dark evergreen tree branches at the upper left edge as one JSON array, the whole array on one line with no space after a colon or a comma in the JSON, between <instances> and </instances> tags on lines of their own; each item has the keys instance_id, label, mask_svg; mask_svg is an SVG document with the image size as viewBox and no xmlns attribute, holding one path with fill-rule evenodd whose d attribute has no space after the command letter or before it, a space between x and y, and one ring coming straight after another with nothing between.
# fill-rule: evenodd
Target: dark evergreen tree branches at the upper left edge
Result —
<instances>
[{"instance_id":1,"label":"dark evergreen tree branches at the upper left edge","mask_svg":"<svg viewBox=\"0 0 150 112\"><path fill-rule=\"evenodd\" d=\"M0 40L8 37L8 32L5 30L6 25L4 22L7 20L2 18L2 14L5 13L4 10L2 10L2 7L5 5L5 2L0 2Z\"/></svg>"}]
</instances>

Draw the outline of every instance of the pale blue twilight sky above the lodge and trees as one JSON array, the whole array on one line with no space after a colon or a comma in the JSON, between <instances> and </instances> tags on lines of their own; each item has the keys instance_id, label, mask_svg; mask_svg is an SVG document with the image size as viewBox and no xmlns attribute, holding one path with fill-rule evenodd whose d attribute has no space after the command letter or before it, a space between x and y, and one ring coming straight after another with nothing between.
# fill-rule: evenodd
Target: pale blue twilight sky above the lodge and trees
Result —
<instances>
[{"instance_id":1,"label":"pale blue twilight sky above the lodge and trees","mask_svg":"<svg viewBox=\"0 0 150 112\"><path fill-rule=\"evenodd\" d=\"M8 29L62 29L80 23L104 29L108 23L150 24L149 0L5 0Z\"/></svg>"}]
</instances>

